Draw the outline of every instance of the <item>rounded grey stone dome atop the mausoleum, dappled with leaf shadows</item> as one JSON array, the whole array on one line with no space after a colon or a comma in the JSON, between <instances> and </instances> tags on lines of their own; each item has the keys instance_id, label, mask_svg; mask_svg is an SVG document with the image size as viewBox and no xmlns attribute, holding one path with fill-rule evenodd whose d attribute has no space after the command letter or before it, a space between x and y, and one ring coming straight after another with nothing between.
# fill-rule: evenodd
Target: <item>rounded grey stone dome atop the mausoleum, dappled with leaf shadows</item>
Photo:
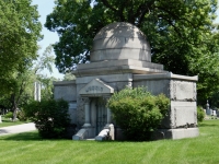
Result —
<instances>
[{"instance_id":1,"label":"rounded grey stone dome atop the mausoleum, dappled with leaf shadows","mask_svg":"<svg viewBox=\"0 0 219 164\"><path fill-rule=\"evenodd\" d=\"M134 59L151 61L150 45L135 25L118 22L103 27L93 39L91 62Z\"/></svg>"}]
</instances>

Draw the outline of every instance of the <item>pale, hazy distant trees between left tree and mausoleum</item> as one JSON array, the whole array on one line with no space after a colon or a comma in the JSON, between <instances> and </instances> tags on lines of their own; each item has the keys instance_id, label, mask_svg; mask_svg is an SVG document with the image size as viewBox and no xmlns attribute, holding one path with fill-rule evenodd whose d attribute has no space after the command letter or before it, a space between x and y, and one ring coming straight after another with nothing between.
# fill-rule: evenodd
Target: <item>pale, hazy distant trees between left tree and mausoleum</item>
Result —
<instances>
[{"instance_id":1,"label":"pale, hazy distant trees between left tree and mausoleum","mask_svg":"<svg viewBox=\"0 0 219 164\"><path fill-rule=\"evenodd\" d=\"M16 119L18 108L33 101L34 97L34 82L38 81L42 85L42 99L53 98L53 81L55 78L47 78L43 75L42 71L48 69L53 72L51 65L54 63L54 56L50 55L51 46L48 46L43 56L38 57L33 65L26 66L22 72L16 71L10 80L14 81L11 85L11 91L8 94L0 96L0 104L8 106L13 112L13 120Z\"/></svg>"}]
</instances>

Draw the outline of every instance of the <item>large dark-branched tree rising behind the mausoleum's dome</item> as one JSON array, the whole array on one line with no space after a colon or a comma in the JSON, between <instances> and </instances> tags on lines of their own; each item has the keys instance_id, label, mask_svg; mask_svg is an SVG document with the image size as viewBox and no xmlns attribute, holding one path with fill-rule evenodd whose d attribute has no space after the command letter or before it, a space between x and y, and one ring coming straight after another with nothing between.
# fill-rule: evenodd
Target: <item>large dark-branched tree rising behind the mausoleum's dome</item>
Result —
<instances>
[{"instance_id":1,"label":"large dark-branched tree rising behind the mausoleum's dome","mask_svg":"<svg viewBox=\"0 0 219 164\"><path fill-rule=\"evenodd\" d=\"M89 61L92 39L103 26L129 22L148 37L153 62L199 75L198 98L205 99L219 80L216 10L217 0L57 0L45 26L60 36L54 49L65 72Z\"/></svg>"}]
</instances>

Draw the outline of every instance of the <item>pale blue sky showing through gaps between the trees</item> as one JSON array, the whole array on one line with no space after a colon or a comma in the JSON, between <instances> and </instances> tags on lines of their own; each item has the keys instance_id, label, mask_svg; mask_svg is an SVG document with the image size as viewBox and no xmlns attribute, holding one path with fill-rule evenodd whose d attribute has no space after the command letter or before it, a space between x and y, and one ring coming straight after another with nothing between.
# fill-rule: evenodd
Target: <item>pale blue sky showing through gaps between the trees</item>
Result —
<instances>
[{"instance_id":1,"label":"pale blue sky showing through gaps between the trees","mask_svg":"<svg viewBox=\"0 0 219 164\"><path fill-rule=\"evenodd\" d=\"M42 47L42 49L38 52L39 52L39 55L42 55L47 46L58 42L58 39L59 39L59 37L56 33L50 32L46 27L44 27L44 24L46 22L46 15L48 15L49 13L53 12L53 8L55 7L55 3L54 3L54 0L33 0L32 3L38 5L38 12L41 15L39 21L43 25L42 34L44 35L44 39L38 42L38 45ZM219 10L217 13L219 15ZM219 17L217 17L217 22L219 22ZM54 70L53 74L49 74L48 71L45 71L44 73L47 74L48 77L53 75L58 79L64 78L64 74L60 74L58 72L58 70L55 68L55 66L54 66L53 70Z\"/></svg>"}]
</instances>

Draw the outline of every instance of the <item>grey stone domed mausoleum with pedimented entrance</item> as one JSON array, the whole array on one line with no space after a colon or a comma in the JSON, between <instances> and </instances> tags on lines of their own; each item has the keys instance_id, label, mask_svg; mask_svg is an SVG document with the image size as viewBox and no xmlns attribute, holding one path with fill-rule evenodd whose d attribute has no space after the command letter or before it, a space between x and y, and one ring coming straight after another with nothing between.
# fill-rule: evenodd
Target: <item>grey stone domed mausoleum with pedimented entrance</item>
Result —
<instances>
[{"instance_id":1,"label":"grey stone domed mausoleum with pedimented entrance","mask_svg":"<svg viewBox=\"0 0 219 164\"><path fill-rule=\"evenodd\" d=\"M151 62L151 48L143 33L129 23L103 27L93 39L90 63L78 65L73 81L54 82L55 98L69 102L71 122L78 132L73 140L123 139L112 120L107 99L125 86L147 86L154 95L164 93L171 99L169 116L155 132L157 139L197 137L197 77L164 71ZM126 118L124 118L126 119ZM136 133L138 134L138 133Z\"/></svg>"}]
</instances>

